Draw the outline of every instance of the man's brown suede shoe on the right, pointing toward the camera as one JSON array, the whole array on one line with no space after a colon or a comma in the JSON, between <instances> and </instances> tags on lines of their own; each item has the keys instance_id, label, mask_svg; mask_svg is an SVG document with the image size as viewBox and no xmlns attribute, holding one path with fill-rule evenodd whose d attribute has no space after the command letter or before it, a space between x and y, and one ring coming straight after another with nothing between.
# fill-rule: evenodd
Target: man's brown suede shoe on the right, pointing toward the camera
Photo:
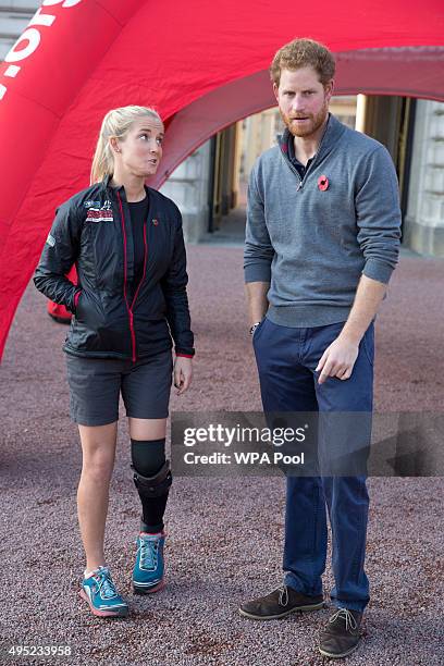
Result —
<instances>
[{"instance_id":1,"label":"man's brown suede shoe on the right, pointing toward the camera","mask_svg":"<svg viewBox=\"0 0 444 666\"><path fill-rule=\"evenodd\" d=\"M338 608L321 632L319 652L331 659L340 659L354 652L360 641L362 613Z\"/></svg>"}]
</instances>

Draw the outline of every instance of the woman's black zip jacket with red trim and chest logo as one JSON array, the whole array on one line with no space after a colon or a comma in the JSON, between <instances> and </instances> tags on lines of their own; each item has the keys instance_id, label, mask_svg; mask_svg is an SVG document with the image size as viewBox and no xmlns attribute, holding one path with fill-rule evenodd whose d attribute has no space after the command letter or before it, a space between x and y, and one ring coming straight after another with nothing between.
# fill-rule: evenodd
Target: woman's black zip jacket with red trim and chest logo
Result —
<instances>
[{"instance_id":1,"label":"woman's black zip jacket with red trim and chest logo","mask_svg":"<svg viewBox=\"0 0 444 666\"><path fill-rule=\"evenodd\" d=\"M74 317L64 350L136 360L172 347L194 355L186 255L177 206L151 187L144 273L134 285L134 238L125 189L108 176L55 211L34 275L36 287ZM65 276L75 263L78 284ZM171 333L171 335L170 335Z\"/></svg>"}]
</instances>

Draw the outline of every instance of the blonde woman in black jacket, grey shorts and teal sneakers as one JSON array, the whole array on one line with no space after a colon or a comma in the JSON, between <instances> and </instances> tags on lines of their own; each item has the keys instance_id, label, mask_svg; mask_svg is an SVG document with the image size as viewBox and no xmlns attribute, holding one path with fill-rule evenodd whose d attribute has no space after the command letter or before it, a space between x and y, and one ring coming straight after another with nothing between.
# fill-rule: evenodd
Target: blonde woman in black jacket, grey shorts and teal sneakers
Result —
<instances>
[{"instance_id":1,"label":"blonde woman in black jacket, grey shorts and teal sneakers","mask_svg":"<svg viewBox=\"0 0 444 666\"><path fill-rule=\"evenodd\" d=\"M34 276L40 292L74 314L63 349L71 416L83 449L77 506L86 569L79 593L100 617L128 614L103 554L120 393L143 507L133 587L150 593L163 587L163 514L172 481L164 451L171 337L177 394L192 381L181 213L171 199L145 185L159 166L163 134L152 109L107 113L92 185L57 210ZM73 263L77 286L65 278Z\"/></svg>"}]
</instances>

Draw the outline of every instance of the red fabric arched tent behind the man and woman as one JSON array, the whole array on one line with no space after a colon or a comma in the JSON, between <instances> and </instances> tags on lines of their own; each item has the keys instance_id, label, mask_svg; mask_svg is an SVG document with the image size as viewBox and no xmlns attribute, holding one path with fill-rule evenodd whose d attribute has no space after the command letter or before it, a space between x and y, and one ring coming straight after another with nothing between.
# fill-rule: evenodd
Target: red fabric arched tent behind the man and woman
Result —
<instances>
[{"instance_id":1,"label":"red fabric arched tent behind the man and woman","mask_svg":"<svg viewBox=\"0 0 444 666\"><path fill-rule=\"evenodd\" d=\"M274 103L294 37L338 54L336 91L444 100L442 0L44 0L0 65L0 354L54 208L89 183L104 113L155 106L168 174L215 131Z\"/></svg>"}]
</instances>

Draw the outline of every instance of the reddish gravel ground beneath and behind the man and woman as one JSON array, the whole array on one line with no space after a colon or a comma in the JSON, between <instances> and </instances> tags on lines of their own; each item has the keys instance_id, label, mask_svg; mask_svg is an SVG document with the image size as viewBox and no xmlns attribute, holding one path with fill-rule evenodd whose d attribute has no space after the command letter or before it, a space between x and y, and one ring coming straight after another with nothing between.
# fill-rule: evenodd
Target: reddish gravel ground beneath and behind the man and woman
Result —
<instances>
[{"instance_id":1,"label":"reddish gravel ground beneath and behind the man and woman","mask_svg":"<svg viewBox=\"0 0 444 666\"><path fill-rule=\"evenodd\" d=\"M181 399L174 396L171 407L260 409L245 335L242 249L195 246L188 256L198 356L193 388ZM444 261L403 256L377 324L380 410L442 410L443 280ZM149 599L132 595L139 508L124 419L107 558L132 615L101 620L87 612L77 595L84 566L75 505L81 449L67 417L60 350L65 332L46 314L44 297L30 285L0 369L3 644L71 645L64 659L70 665L322 664L317 637L329 610L263 624L236 612L240 601L271 591L281 580L279 478L176 478L168 509L168 587ZM441 665L443 479L371 479L369 486L372 599L365 641L348 664ZM325 590L331 585L328 568Z\"/></svg>"}]
</instances>

